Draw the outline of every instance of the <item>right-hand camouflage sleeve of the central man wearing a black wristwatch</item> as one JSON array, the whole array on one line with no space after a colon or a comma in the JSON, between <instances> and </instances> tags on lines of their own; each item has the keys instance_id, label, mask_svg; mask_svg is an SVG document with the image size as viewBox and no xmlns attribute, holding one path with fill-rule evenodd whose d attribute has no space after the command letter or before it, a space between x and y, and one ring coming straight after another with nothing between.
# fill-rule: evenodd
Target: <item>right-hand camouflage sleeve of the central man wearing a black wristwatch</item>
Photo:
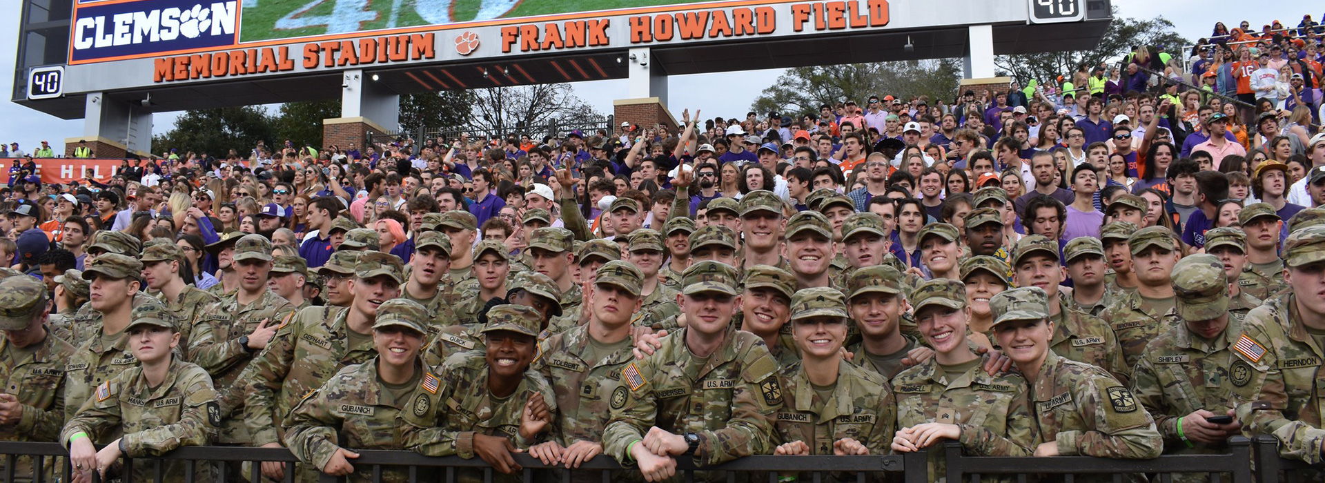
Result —
<instances>
[{"instance_id":1,"label":"right-hand camouflage sleeve of the central man wearing a black wristwatch","mask_svg":"<svg viewBox=\"0 0 1325 483\"><path fill-rule=\"evenodd\" d=\"M718 464L751 454L772 453L772 425L782 409L778 361L759 341L746 348L741 380L731 390L731 419L719 430L701 431L694 451L698 464Z\"/></svg>"}]
</instances>

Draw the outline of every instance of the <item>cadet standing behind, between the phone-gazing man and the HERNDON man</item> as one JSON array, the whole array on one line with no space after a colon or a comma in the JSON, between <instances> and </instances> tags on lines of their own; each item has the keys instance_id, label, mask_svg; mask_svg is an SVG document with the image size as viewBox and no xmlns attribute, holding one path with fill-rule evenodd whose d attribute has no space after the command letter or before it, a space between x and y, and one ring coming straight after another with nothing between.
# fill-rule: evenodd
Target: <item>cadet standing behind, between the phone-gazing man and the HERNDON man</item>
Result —
<instances>
[{"instance_id":1,"label":"cadet standing behind, between the phone-gazing man and the HERNDON man","mask_svg":"<svg viewBox=\"0 0 1325 483\"><path fill-rule=\"evenodd\" d=\"M1238 286L1261 300L1268 300L1288 286L1284 261L1279 258L1279 236L1283 221L1268 202L1253 202L1238 213L1238 224L1247 234L1247 267Z\"/></svg>"}]
</instances>

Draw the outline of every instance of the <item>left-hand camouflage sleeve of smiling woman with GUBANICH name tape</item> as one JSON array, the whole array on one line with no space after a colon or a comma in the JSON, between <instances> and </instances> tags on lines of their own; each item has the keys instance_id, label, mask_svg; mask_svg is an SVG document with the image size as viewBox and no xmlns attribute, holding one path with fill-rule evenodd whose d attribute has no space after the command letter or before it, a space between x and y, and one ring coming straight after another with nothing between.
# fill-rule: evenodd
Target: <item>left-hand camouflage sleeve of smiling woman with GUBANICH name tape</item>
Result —
<instances>
[{"instance_id":1,"label":"left-hand camouflage sleeve of smiling woman with GUBANICH name tape","mask_svg":"<svg viewBox=\"0 0 1325 483\"><path fill-rule=\"evenodd\" d=\"M341 447L337 431L343 419L331 412L333 401L327 394L341 389L341 376L331 378L322 388L309 393L290 410L285 431L285 446L301 462L314 468L326 467L331 455Z\"/></svg>"}]
</instances>

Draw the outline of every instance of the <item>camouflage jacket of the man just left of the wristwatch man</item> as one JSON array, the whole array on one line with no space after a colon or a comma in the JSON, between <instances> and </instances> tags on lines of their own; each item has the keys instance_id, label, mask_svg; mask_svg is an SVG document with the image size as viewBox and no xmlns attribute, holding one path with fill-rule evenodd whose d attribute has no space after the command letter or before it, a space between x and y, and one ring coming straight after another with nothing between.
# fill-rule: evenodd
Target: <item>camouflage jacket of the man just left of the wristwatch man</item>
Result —
<instances>
[{"instance_id":1,"label":"camouflage jacket of the man just left of the wristwatch man","mask_svg":"<svg viewBox=\"0 0 1325 483\"><path fill-rule=\"evenodd\" d=\"M627 386L621 369L635 360L632 345L603 357L586 360L590 347L588 326L553 335L539 347L539 357L530 365L547 378L556 392L556 442L570 446L578 439L600 441L611 416L608 406L625 404Z\"/></svg>"}]
</instances>

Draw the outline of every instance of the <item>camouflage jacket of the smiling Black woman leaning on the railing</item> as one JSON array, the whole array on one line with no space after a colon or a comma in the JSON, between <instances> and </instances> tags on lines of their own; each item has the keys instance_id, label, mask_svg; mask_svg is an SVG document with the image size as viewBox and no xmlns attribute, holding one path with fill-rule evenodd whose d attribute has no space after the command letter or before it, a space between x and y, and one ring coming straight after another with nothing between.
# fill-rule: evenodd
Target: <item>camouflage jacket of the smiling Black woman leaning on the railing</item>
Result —
<instances>
[{"instance_id":1,"label":"camouflage jacket of the smiling Black woman leaning on the railing","mask_svg":"<svg viewBox=\"0 0 1325 483\"><path fill-rule=\"evenodd\" d=\"M494 398L489 394L488 360L482 351L447 357L439 372L440 384L429 385L425 380L424 392L419 393L427 394L427 402L413 401L409 410L400 413L404 421L401 441L419 454L474 458L474 434L509 438L515 447L527 449L534 442L521 441L519 417L530 396L543 394L547 409L556 413L556 394L537 371L525 371L525 378L510 396Z\"/></svg>"}]
</instances>

